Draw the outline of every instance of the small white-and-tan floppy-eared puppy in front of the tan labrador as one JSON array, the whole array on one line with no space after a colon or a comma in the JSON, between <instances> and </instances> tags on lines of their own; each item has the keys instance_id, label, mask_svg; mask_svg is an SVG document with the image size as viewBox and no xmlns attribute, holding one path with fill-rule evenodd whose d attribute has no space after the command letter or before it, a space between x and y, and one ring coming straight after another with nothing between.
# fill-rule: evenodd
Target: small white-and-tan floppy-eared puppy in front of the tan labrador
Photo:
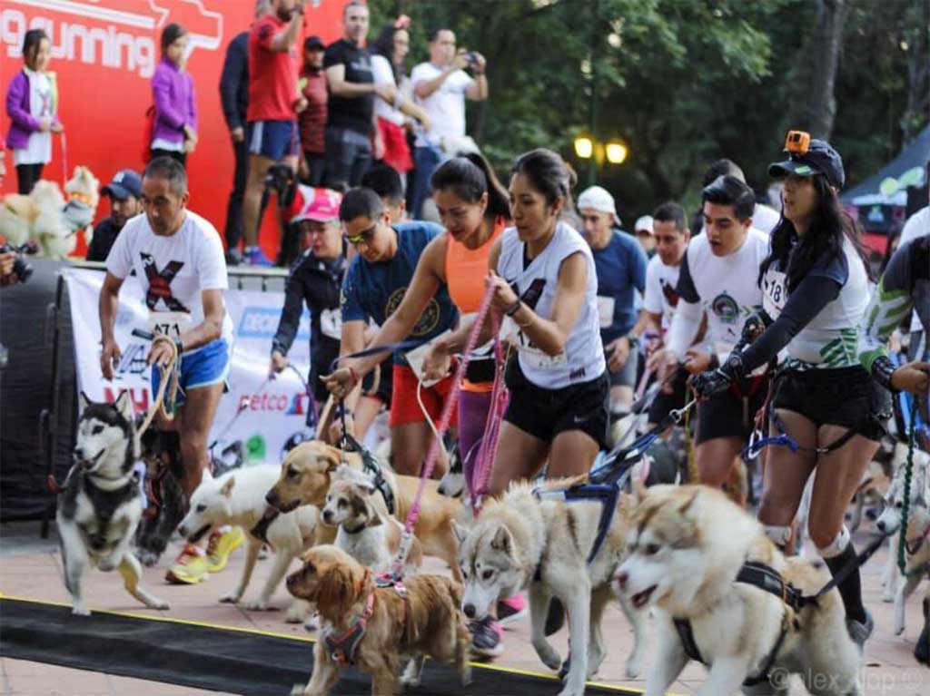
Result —
<instances>
[{"instance_id":1,"label":"small white-and-tan floppy-eared puppy in front of the tan labrador","mask_svg":"<svg viewBox=\"0 0 930 696\"><path fill-rule=\"evenodd\" d=\"M320 512L320 521L339 527L335 544L370 571L391 570L404 527L388 515L373 485L353 480L333 481L326 494L326 506ZM423 549L414 537L404 565L404 576L416 574L422 564Z\"/></svg>"}]
</instances>

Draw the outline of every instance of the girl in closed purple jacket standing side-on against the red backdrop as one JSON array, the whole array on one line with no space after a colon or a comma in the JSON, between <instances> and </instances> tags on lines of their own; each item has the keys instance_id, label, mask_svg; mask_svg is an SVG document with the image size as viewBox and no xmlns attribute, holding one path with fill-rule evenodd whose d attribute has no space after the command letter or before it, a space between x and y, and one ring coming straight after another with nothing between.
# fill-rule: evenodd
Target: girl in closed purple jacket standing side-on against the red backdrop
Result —
<instances>
[{"instance_id":1,"label":"girl in closed purple jacket standing side-on against the red backdrop","mask_svg":"<svg viewBox=\"0 0 930 696\"><path fill-rule=\"evenodd\" d=\"M172 157L186 164L197 144L197 102L193 79L182 69L187 30L171 23L162 32L162 59L152 76L154 119L152 158Z\"/></svg>"}]
</instances>

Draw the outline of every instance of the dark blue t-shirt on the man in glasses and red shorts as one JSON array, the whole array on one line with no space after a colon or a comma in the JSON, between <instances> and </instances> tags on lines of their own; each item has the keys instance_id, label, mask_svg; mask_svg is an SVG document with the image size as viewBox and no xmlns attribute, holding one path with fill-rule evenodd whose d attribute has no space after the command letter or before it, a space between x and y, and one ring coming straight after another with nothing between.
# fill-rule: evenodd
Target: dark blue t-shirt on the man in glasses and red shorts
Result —
<instances>
[{"instance_id":1,"label":"dark blue t-shirt on the man in glasses and red shorts","mask_svg":"<svg viewBox=\"0 0 930 696\"><path fill-rule=\"evenodd\" d=\"M432 222L407 222L394 225L393 229L397 232L397 253L390 261L370 263L362 256L352 259L342 283L343 322L371 320L383 324L400 307L426 245L443 231ZM440 285L407 338L423 344L457 322L458 310L448 289ZM394 353L394 360L407 364L401 351Z\"/></svg>"}]
</instances>

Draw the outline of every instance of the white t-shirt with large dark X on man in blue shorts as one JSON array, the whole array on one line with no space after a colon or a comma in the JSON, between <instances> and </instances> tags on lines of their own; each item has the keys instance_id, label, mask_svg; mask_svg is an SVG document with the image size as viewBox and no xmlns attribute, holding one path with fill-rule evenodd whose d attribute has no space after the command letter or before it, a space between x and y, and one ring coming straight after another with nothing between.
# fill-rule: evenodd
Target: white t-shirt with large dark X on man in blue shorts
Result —
<instances>
[{"instance_id":1,"label":"white t-shirt with large dark X on man in blue shorts","mask_svg":"<svg viewBox=\"0 0 930 696\"><path fill-rule=\"evenodd\" d=\"M150 330L172 337L204 322L203 291L229 289L219 232L190 210L170 237L156 235L144 213L126 222L107 256L107 271L124 279L132 269L145 293ZM221 337L232 344L225 303Z\"/></svg>"}]
</instances>

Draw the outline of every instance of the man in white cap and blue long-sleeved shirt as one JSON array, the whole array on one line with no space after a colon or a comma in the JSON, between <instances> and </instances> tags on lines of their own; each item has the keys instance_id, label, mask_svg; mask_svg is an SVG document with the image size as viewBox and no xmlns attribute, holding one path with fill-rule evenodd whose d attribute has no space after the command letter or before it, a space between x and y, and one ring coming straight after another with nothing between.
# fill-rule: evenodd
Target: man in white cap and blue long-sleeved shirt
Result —
<instances>
[{"instance_id":1,"label":"man in white cap and blue long-sleeved shirt","mask_svg":"<svg viewBox=\"0 0 930 696\"><path fill-rule=\"evenodd\" d=\"M613 421L629 414L632 406L639 341L631 331L645 291L648 259L632 235L615 228L617 208L606 190L600 186L584 190L578 196L578 212L597 271L597 309L610 374Z\"/></svg>"}]
</instances>

